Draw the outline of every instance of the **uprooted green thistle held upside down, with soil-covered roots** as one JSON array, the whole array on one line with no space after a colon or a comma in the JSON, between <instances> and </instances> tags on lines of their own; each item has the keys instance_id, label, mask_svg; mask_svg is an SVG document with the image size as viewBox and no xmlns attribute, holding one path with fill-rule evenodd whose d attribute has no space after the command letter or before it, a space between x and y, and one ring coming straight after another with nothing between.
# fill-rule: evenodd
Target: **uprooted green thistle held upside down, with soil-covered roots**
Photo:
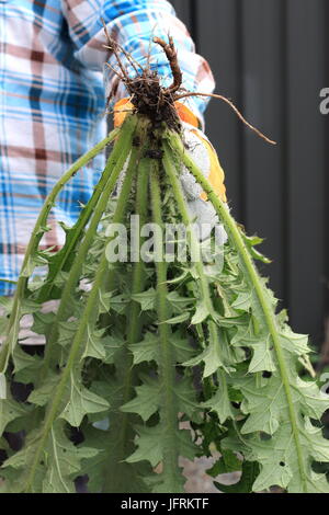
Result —
<instances>
[{"instance_id":1,"label":"uprooted green thistle held upside down, with soil-covered roots","mask_svg":"<svg viewBox=\"0 0 329 515\"><path fill-rule=\"evenodd\" d=\"M172 87L161 88L148 68L137 68L131 79L121 66L135 110L49 194L15 295L2 302L1 490L75 492L76 479L87 476L89 492L178 493L184 489L179 458L216 455L212 477L242 472L234 487L216 482L222 491L279 485L328 492L326 476L313 469L315 461L329 461L319 424L328 396L298 375L302 366L309 368L307 337L276 312L253 262L263 260L254 249L260 240L246 236L186 151L173 108L185 94L174 48L157 43L171 61ZM41 250L56 196L112 142L91 199L76 225L65 228L65 245ZM115 236L109 228L128 228L132 216L140 227L193 227L180 182L183 167L228 234L218 255L207 263L192 260L203 244L192 229L185 262L163 259L161 231L149 249L159 259L110 260ZM146 238L133 232L127 238L140 249ZM47 274L37 278L45 265ZM44 313L54 299L57 309ZM20 344L26 313L33 331L45 336L42 356ZM16 398L13 381L29 385L27 399ZM5 435L18 432L23 444L14 450Z\"/></svg>"}]
</instances>

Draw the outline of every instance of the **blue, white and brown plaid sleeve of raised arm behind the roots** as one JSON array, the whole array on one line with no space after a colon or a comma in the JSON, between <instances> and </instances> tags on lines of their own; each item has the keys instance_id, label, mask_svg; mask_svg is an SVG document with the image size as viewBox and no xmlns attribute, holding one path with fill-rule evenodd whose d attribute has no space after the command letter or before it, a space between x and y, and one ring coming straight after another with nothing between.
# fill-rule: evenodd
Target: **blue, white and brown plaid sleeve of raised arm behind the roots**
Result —
<instances>
[{"instance_id":1,"label":"blue, white and brown plaid sleeve of raised arm behind the roots","mask_svg":"<svg viewBox=\"0 0 329 515\"><path fill-rule=\"evenodd\" d=\"M175 16L167 0L63 0L64 15L70 37L77 48L75 57L92 70L104 70L106 95L115 84L115 73L104 64L116 67L115 57L104 48L102 19L111 37L141 66L150 54L151 69L157 69L163 85L172 82L170 67L161 48L151 43L154 36L168 41L173 37L183 72L182 87L188 91L211 93L214 77L207 61L195 53L194 43L185 25ZM133 75L133 70L132 70ZM126 95L123 84L117 84L114 100ZM183 101L203 123L208 100L189 98Z\"/></svg>"}]
</instances>

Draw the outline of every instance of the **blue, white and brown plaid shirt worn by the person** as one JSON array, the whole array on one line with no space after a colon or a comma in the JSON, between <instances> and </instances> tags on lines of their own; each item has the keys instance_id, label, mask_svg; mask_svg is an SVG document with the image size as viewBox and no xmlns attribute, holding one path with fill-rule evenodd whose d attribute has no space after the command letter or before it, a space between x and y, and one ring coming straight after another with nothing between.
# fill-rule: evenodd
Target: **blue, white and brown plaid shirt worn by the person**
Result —
<instances>
[{"instance_id":1,"label":"blue, white and brown plaid shirt worn by the person","mask_svg":"<svg viewBox=\"0 0 329 515\"><path fill-rule=\"evenodd\" d=\"M24 250L46 195L66 169L105 134L104 62L113 56L101 23L145 62L155 33L168 32L179 49L189 90L211 92L207 62L194 53L184 25L166 0L0 0L0 278L16 281ZM152 48L163 82L170 70ZM115 75L106 70L106 88ZM122 88L117 98L124 95ZM204 99L189 100L202 113ZM202 115L201 115L202 116ZM95 158L67 185L52 211L43 245L60 245L57 221L72 225L103 167ZM0 282L0 294L14 286Z\"/></svg>"}]
</instances>

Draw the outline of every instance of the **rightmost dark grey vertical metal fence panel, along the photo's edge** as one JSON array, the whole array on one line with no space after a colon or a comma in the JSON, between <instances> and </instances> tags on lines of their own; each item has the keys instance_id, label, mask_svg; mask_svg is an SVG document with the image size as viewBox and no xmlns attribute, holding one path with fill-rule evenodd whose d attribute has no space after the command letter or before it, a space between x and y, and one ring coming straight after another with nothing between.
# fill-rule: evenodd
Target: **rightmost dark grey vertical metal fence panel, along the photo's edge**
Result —
<instances>
[{"instance_id":1,"label":"rightmost dark grey vertical metal fence panel, along the photo's edge","mask_svg":"<svg viewBox=\"0 0 329 515\"><path fill-rule=\"evenodd\" d=\"M290 298L298 330L321 335L326 141L319 113L325 75L326 0L288 0ZM327 54L326 54L327 55Z\"/></svg>"}]
</instances>

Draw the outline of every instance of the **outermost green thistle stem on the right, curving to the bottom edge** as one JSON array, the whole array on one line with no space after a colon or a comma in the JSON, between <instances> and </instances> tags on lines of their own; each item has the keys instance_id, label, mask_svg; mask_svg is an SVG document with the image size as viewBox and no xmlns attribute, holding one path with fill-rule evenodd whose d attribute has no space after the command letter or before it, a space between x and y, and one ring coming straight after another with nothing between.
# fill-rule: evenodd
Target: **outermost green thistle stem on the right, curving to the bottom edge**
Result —
<instances>
[{"instance_id":1,"label":"outermost green thistle stem on the right, curving to the bottom edge","mask_svg":"<svg viewBox=\"0 0 329 515\"><path fill-rule=\"evenodd\" d=\"M293 437L294 437L295 447L296 447L296 454L298 458L300 478L304 484L304 492L307 493L306 471L305 471L305 466L304 466L304 460L303 460L303 450L302 450L302 445L299 440L299 432L298 432L298 423L297 423L298 415L295 412L295 407L294 407L294 401L293 401L293 396L292 396L292 390L291 390L291 385L290 385L290 379L288 379L288 370L286 368L283 351L281 348L279 333L276 329L275 314L273 313L272 306L270 306L269 304L263 284L253 264L253 261L248 252L248 249L246 248L240 230L238 229L236 221L230 216L225 204L216 195L212 185L209 184L207 179L204 176L203 172L190 158L188 152L184 151L182 141L177 137L177 135L173 133L167 133L167 138L168 138L171 149L179 156L181 161L184 163L188 170L195 178L196 182L202 186L203 191L207 194L209 202L213 204L217 215L219 216L220 220L224 222L224 226L225 226L226 231L228 232L231 245L237 250L238 255L240 256L241 264L245 268L249 285L256 291L257 298L259 300L259 305L261 307L261 310L264 314L264 319L269 328L269 332L272 336L272 341L273 341L273 345L274 345L274 350L275 350L275 354L277 358L279 369L281 373L282 382L283 382L283 387L284 387L284 391L285 391L285 396L287 400L288 414L290 414L292 432L293 432ZM168 145L168 144L164 144L164 145Z\"/></svg>"}]
</instances>

